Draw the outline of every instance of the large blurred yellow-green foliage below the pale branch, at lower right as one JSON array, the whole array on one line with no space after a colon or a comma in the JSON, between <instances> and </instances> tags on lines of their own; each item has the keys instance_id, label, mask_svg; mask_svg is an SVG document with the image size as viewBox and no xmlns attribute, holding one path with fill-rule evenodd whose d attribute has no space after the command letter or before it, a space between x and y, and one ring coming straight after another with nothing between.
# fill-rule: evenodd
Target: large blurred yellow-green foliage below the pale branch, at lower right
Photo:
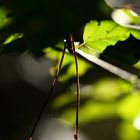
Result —
<instances>
[{"instance_id":1,"label":"large blurred yellow-green foliage below the pale branch, at lower right","mask_svg":"<svg viewBox=\"0 0 140 140\"><path fill-rule=\"evenodd\" d=\"M73 125L75 124L75 98L75 87L72 85L51 103L53 110L62 109L60 118ZM110 77L101 78L90 85L82 85L80 126L117 117L119 123L117 128L113 129L118 140L139 140L140 122L136 122L139 116L140 91L132 84Z\"/></svg>"}]
</instances>

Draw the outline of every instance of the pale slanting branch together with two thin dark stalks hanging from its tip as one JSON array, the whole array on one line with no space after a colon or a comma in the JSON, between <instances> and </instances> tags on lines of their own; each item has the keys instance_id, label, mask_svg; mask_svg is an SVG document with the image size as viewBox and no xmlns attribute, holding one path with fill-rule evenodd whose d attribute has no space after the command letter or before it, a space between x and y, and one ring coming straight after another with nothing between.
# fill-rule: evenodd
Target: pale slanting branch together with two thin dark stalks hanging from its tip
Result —
<instances>
[{"instance_id":1,"label":"pale slanting branch together with two thin dark stalks hanging from its tip","mask_svg":"<svg viewBox=\"0 0 140 140\"><path fill-rule=\"evenodd\" d=\"M83 48L84 48L84 50L82 50ZM34 135L35 129L36 129L36 127L41 119L41 116L42 116L46 106L48 105L48 101L49 101L51 95L53 94L55 85L57 83L58 75L59 75L60 70L61 70L61 66L63 63L66 49L69 51L70 54L72 54L74 56L76 79L77 79L76 80L77 81L76 82L76 90L77 90L77 94L76 94L76 118L75 118L76 122L75 122L75 131L74 131L74 140L78 140L78 127L79 127L78 119L79 119L79 107L80 107L80 82L79 82L77 54L81 55L82 57L87 59L89 62L100 66L101 68L117 75L118 77L120 77L120 78L136 85L138 88L140 88L140 79L138 78L137 75L132 74L131 72L128 72L126 70L123 70L117 66L114 66L114 65L112 65L104 60L101 60L100 58L98 58L99 54L97 52L95 52L96 56L90 54L90 52L93 52L93 50L91 48L89 48L88 46L86 46L84 43L80 44L78 47L77 46L75 47L73 36L70 35L69 37L67 37L66 40L64 40L64 49L62 52L62 56L61 56L61 60L60 60L58 69L57 69L56 74L55 74L54 81L52 83L50 92L49 92L48 96L46 97L45 102L41 108L41 111L39 112L39 115L35 121L35 124L33 126L32 131L31 131L31 135L30 135L29 140L33 140L33 135ZM87 51L88 51L88 53L87 53Z\"/></svg>"}]
</instances>

